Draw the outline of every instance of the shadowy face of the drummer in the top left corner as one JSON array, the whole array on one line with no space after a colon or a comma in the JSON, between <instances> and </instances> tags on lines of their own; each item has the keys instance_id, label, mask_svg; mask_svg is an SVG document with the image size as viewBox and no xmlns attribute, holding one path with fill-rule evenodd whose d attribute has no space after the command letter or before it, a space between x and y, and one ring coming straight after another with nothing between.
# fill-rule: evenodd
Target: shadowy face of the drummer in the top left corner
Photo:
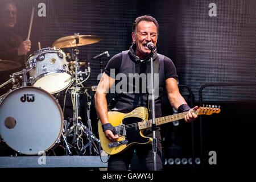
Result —
<instances>
[{"instance_id":1,"label":"shadowy face of the drummer in the top left corner","mask_svg":"<svg viewBox=\"0 0 256 182\"><path fill-rule=\"evenodd\" d=\"M1 23L5 28L14 28L17 17L16 17L16 7L12 3L6 3L2 7L1 12Z\"/></svg>"}]
</instances>

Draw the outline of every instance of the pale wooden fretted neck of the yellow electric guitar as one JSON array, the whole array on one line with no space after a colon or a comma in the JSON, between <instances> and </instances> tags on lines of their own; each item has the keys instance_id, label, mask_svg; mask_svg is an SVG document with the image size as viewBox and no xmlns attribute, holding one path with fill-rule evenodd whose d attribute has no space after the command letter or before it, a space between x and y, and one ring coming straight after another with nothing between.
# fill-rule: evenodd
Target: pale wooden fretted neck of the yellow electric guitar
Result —
<instances>
[{"instance_id":1,"label":"pale wooden fretted neck of the yellow electric guitar","mask_svg":"<svg viewBox=\"0 0 256 182\"><path fill-rule=\"evenodd\" d=\"M197 114L196 111L192 111L193 113ZM179 113L179 114L173 114L173 115L167 115L165 117L160 117L160 118L156 118L155 119L155 123L156 125L163 125L165 123L170 123L173 121L177 121L179 119L184 119L184 116L188 114L187 112L184 113ZM143 130L143 129L147 129L149 127L152 126L152 119L148 120L148 121L142 121L138 123L139 129Z\"/></svg>"}]
</instances>

